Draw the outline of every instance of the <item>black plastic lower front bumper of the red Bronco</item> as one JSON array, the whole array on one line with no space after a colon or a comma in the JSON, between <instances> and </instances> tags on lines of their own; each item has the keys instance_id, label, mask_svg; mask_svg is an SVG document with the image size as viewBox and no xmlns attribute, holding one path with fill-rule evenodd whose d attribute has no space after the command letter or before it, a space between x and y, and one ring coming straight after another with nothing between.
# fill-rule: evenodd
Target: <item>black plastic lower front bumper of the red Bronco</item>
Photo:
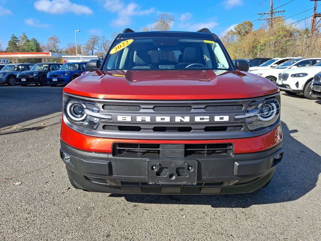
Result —
<instances>
[{"instance_id":1,"label":"black plastic lower front bumper of the red Bronco","mask_svg":"<svg viewBox=\"0 0 321 241\"><path fill-rule=\"evenodd\" d=\"M273 176L283 150L276 147L249 154L235 154L231 158L193 160L164 159L197 165L196 182L150 184L148 170L154 160L145 158L117 158L74 149L61 142L60 154L69 177L77 188L87 191L126 194L236 194L253 192L264 186ZM68 154L67 156L65 154ZM280 155L278 159L275 157ZM162 161L158 161L162 162ZM155 162L157 163L157 162Z\"/></svg>"}]
</instances>

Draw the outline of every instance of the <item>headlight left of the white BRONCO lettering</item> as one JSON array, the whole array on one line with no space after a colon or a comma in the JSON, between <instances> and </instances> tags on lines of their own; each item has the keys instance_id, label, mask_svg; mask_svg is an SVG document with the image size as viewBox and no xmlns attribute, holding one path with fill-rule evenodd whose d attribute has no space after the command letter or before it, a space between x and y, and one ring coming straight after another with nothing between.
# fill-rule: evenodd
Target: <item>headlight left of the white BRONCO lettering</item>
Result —
<instances>
[{"instance_id":1,"label":"headlight left of the white BRONCO lettering","mask_svg":"<svg viewBox=\"0 0 321 241\"><path fill-rule=\"evenodd\" d=\"M78 127L95 130L102 118L111 121L111 115L101 114L94 102L69 98L64 107L64 114L68 121Z\"/></svg>"}]
</instances>

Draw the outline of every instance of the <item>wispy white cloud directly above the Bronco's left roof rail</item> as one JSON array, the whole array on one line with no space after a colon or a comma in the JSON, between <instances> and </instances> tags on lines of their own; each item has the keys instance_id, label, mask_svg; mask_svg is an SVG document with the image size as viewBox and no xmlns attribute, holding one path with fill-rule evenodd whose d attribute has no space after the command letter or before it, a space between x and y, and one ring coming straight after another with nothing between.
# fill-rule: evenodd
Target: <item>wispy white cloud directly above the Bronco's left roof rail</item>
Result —
<instances>
[{"instance_id":1,"label":"wispy white cloud directly above the Bronco's left roof rail","mask_svg":"<svg viewBox=\"0 0 321 241\"><path fill-rule=\"evenodd\" d=\"M131 23L132 16L150 15L155 12L154 8L141 10L140 6L136 3L130 3L125 5L120 0L106 0L104 8L108 12L117 13L117 19L112 21L112 26L128 26Z\"/></svg>"}]
</instances>

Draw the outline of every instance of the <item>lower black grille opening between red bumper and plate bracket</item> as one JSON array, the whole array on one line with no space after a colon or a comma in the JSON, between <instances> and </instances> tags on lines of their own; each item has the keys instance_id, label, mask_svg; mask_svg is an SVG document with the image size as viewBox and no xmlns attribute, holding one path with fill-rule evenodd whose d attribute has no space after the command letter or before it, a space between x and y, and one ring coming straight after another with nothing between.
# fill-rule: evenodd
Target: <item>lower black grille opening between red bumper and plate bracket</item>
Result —
<instances>
[{"instance_id":1,"label":"lower black grille opening between red bumper and plate bracket","mask_svg":"<svg viewBox=\"0 0 321 241\"><path fill-rule=\"evenodd\" d=\"M233 145L231 143L185 145L114 143L112 154L114 157L122 158L224 158L233 155Z\"/></svg>"}]
</instances>

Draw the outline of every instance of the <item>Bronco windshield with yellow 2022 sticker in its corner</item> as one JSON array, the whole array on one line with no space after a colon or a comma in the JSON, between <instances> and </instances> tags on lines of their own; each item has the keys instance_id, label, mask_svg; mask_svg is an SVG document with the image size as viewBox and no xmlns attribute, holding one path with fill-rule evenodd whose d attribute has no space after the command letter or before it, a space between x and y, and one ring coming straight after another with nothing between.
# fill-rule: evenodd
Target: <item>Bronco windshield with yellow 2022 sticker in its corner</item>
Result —
<instances>
[{"instance_id":1,"label":"Bronco windshield with yellow 2022 sticker in its corner","mask_svg":"<svg viewBox=\"0 0 321 241\"><path fill-rule=\"evenodd\" d=\"M104 70L232 70L220 45L213 40L137 38L117 40Z\"/></svg>"}]
</instances>

